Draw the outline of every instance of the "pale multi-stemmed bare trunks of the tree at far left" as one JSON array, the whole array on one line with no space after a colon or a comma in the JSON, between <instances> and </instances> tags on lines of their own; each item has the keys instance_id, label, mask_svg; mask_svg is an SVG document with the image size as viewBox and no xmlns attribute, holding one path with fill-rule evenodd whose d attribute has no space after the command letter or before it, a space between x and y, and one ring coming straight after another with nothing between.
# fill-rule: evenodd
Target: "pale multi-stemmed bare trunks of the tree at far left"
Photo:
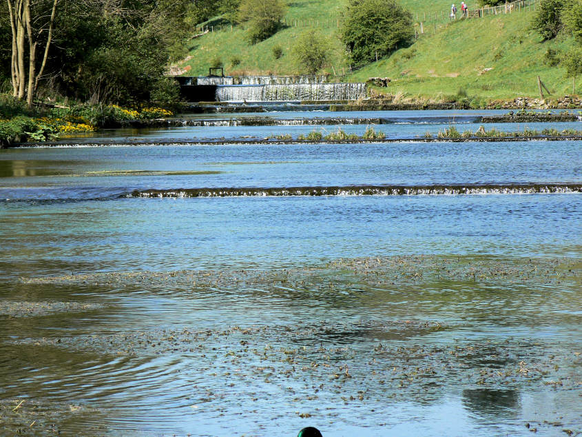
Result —
<instances>
[{"instance_id":1,"label":"pale multi-stemmed bare trunks of the tree at far left","mask_svg":"<svg viewBox=\"0 0 582 437\"><path fill-rule=\"evenodd\" d=\"M26 96L32 107L34 92L42 77L52 40L56 5L59 0L7 0L10 30L12 30L12 57L10 75L12 94L17 99ZM45 32L46 37L43 39ZM37 71L37 48L44 45L43 58ZM28 59L28 66L25 65Z\"/></svg>"}]
</instances>

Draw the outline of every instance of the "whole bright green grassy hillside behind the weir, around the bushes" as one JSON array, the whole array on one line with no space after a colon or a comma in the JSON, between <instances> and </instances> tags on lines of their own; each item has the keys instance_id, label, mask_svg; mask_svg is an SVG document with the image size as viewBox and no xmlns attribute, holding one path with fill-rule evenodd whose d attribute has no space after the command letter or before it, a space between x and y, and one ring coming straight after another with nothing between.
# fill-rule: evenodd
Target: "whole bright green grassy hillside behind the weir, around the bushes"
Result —
<instances>
[{"instance_id":1,"label":"whole bright green grassy hillside behind the weir, around the bushes","mask_svg":"<svg viewBox=\"0 0 582 437\"><path fill-rule=\"evenodd\" d=\"M190 57L181 66L190 65L188 75L207 74L210 63L219 58L227 74L295 74L298 70L291 56L291 47L301 32L316 28L333 47L326 72L333 74L333 65L335 72L340 74L349 66L344 48L337 38L337 20L341 19L345 1L290 2L285 17L288 27L256 45L245 41L242 28L235 27L231 32L227 27L227 30L210 32L191 41ZM572 92L572 80L564 77L564 69L550 66L544 59L548 48L567 50L573 41L559 38L541 43L541 37L528 30L534 12L459 19L450 23L444 8L428 0L403 0L402 3L413 12L415 18L417 14L421 20L430 17L432 21L424 23L425 33L409 48L397 50L391 57L380 59L351 76L342 77L342 81L390 77L392 82L389 87L378 91L434 99L457 94L484 99L510 99L515 96L538 96L539 75L552 94ZM215 20L210 25L218 22ZM299 26L295 27L297 24ZM419 30L418 23L416 28ZM277 45L283 50L280 59L275 59L273 55L273 47ZM231 60L235 58L240 59L240 64L232 66Z\"/></svg>"}]
</instances>

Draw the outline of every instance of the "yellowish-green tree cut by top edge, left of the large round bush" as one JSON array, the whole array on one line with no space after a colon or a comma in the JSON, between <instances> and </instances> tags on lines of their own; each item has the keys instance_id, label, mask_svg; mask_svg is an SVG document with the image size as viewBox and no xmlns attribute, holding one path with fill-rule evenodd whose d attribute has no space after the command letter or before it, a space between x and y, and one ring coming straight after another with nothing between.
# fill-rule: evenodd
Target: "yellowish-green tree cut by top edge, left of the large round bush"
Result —
<instances>
[{"instance_id":1,"label":"yellowish-green tree cut by top edge, left of the large round bush","mask_svg":"<svg viewBox=\"0 0 582 437\"><path fill-rule=\"evenodd\" d=\"M286 9L283 0L242 0L238 8L238 21L245 24L247 38L254 44L277 32Z\"/></svg>"}]
</instances>

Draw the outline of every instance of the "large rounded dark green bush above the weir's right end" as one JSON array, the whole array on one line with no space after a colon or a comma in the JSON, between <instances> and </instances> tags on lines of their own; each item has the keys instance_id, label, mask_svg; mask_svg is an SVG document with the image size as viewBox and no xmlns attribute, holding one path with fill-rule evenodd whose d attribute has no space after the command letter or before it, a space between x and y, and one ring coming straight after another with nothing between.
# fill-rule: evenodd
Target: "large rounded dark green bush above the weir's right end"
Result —
<instances>
[{"instance_id":1,"label":"large rounded dark green bush above the weir's right end","mask_svg":"<svg viewBox=\"0 0 582 437\"><path fill-rule=\"evenodd\" d=\"M412 14L394 0L350 0L341 40L356 64L386 56L413 37Z\"/></svg>"}]
</instances>

